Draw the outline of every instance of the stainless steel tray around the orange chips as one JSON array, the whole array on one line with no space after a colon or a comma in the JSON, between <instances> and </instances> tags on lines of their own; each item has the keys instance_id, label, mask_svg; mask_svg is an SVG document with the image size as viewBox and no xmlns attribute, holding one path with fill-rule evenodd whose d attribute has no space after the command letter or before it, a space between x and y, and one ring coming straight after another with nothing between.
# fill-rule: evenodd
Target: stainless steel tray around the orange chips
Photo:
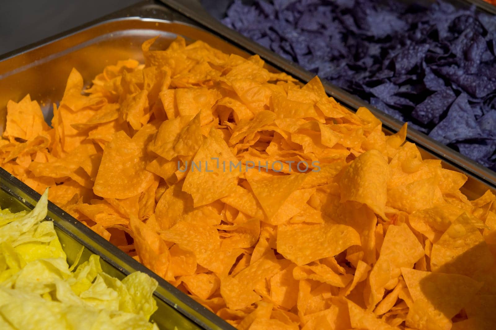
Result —
<instances>
[{"instance_id":1,"label":"stainless steel tray around the orange chips","mask_svg":"<svg viewBox=\"0 0 496 330\"><path fill-rule=\"evenodd\" d=\"M214 19L202 16L206 14L201 8L188 8L186 2L164 2L168 6L151 0L145 1L49 40L0 56L0 118L4 119L5 105L9 99L18 101L27 93L45 104L44 113L49 118L50 104L62 98L66 78L72 67L76 67L85 82L90 83L108 64L129 57L142 59L141 43L157 35L161 37L159 41L164 47L177 35L181 35L187 41L200 39L228 53L247 56L257 52L275 70L290 73L302 82L312 78L309 72L254 44ZM325 84L325 88L328 94L350 109L359 106L372 108L330 84ZM386 131L397 131L401 127L401 123L394 119L377 111L375 113L383 121ZM496 192L494 173L478 168L465 157L419 132L412 130L409 139L419 144L424 157L442 159L446 168L456 168L465 173L469 181L464 192L469 197L478 197L487 189ZM39 198L39 194L4 170L0 170L0 184L8 192L7 199L12 200L9 204L13 205L12 208L32 207ZM110 274L122 277L139 270L157 279L159 288L155 297L160 309L153 317L163 329L173 329L174 325L179 329L234 329L54 204L49 205L49 218L55 222L63 242L74 241L84 245L92 253L99 254L108 263L105 270ZM68 251L69 261L76 252L77 249ZM171 317L174 310L179 313Z\"/></svg>"}]
</instances>

